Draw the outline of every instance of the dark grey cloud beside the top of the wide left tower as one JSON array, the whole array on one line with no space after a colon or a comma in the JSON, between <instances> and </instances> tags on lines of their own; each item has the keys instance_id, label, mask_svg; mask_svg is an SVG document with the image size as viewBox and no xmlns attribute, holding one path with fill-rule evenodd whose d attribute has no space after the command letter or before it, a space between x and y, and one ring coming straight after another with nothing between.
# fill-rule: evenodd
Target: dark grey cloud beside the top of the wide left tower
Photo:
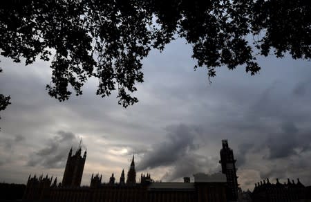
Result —
<instances>
[{"instance_id":1,"label":"dark grey cloud beside the top of the wide left tower","mask_svg":"<svg viewBox=\"0 0 311 202\"><path fill-rule=\"evenodd\" d=\"M57 135L51 138L43 149L30 155L29 166L41 165L46 168L64 167L70 147L77 144L79 138L71 132L58 131ZM75 151L73 151L75 152Z\"/></svg>"}]
</instances>

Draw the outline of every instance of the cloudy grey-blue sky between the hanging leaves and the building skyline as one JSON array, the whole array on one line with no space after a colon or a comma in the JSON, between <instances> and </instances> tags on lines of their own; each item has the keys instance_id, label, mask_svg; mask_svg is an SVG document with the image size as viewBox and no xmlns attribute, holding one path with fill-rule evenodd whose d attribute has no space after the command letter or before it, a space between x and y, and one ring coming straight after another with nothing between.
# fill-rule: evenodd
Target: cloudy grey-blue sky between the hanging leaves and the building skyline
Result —
<instances>
[{"instance_id":1,"label":"cloudy grey-blue sky between the hanging leaves and the building skyline","mask_svg":"<svg viewBox=\"0 0 311 202\"><path fill-rule=\"evenodd\" d=\"M221 140L227 139L237 159L238 183L253 190L263 178L300 178L311 185L310 61L286 55L258 57L262 69L251 76L243 66L234 71L207 70L191 59L183 39L164 51L151 50L143 60L144 82L127 109L117 95L95 95L97 81L66 102L50 98L49 62L25 66L0 58L0 92L11 102L0 116L0 181L26 183L29 174L62 180L70 147L87 149L82 185L92 173L105 182L114 172L119 181L135 155L137 176L155 181L220 172Z\"/></svg>"}]
</instances>

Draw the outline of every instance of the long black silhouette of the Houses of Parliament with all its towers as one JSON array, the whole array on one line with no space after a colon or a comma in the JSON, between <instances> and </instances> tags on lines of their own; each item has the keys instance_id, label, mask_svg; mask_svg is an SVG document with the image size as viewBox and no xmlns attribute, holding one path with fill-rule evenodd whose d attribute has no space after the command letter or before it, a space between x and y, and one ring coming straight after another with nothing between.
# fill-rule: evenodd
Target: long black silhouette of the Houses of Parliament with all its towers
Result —
<instances>
[{"instance_id":1,"label":"long black silhouette of the Houses of Parliament with all its towers","mask_svg":"<svg viewBox=\"0 0 311 202\"><path fill-rule=\"evenodd\" d=\"M92 174L89 186L81 186L86 151L82 155L81 144L75 154L70 149L62 182L48 176L29 176L23 201L46 202L302 202L311 201L310 187L300 181L281 185L256 183L254 192L241 192L236 176L236 160L227 140L222 140L220 149L221 172L216 174L194 174L184 182L155 182L151 174L136 175L134 156L127 174L124 169L117 181L111 174L109 182L102 175ZM137 180L140 177L140 180ZM311 193L311 192L310 192ZM244 197L247 196L247 197Z\"/></svg>"}]
</instances>

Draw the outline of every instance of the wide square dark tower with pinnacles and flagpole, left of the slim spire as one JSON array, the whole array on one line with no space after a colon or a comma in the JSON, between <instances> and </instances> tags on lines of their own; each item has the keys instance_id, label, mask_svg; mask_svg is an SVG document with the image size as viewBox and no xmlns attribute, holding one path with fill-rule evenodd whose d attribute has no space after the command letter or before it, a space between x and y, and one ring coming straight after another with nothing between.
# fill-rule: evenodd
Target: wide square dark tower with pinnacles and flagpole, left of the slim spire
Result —
<instances>
[{"instance_id":1,"label":"wide square dark tower with pinnacles and flagpole, left of the slim spire","mask_svg":"<svg viewBox=\"0 0 311 202\"><path fill-rule=\"evenodd\" d=\"M86 151L84 152L84 156L81 156L81 141L77 152L75 152L75 155L72 156L72 153L73 148L70 149L68 154L62 181L63 187L79 187L81 184L84 163L86 160Z\"/></svg>"}]
</instances>

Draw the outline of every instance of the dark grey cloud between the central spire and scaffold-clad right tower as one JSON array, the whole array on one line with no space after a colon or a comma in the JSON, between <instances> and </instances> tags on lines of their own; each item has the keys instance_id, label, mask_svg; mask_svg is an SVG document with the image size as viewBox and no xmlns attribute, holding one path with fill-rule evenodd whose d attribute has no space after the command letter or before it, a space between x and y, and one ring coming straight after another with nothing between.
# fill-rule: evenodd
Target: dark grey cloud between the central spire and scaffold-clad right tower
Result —
<instances>
[{"instance_id":1,"label":"dark grey cloud between the central spire and scaffold-clad right tower","mask_svg":"<svg viewBox=\"0 0 311 202\"><path fill-rule=\"evenodd\" d=\"M164 181L181 180L197 172L216 172L219 169L218 156L196 154L200 149L196 143L204 134L202 127L193 125L171 125L167 127L164 141L152 145L152 150L144 154L138 170L169 166L169 172L162 176Z\"/></svg>"}]
</instances>

